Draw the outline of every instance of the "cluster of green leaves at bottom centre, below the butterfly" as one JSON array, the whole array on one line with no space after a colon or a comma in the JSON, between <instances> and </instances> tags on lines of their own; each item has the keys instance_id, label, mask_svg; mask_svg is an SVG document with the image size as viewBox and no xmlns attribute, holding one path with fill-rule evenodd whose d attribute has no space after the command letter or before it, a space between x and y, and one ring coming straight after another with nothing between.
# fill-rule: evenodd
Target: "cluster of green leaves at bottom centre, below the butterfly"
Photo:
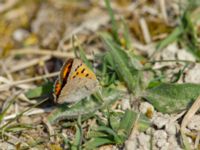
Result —
<instances>
[{"instance_id":1,"label":"cluster of green leaves at bottom centre, below the butterfly","mask_svg":"<svg viewBox=\"0 0 200 150\"><path fill-rule=\"evenodd\" d=\"M95 149L105 144L122 145L129 137L135 123L138 124L139 130L145 130L150 125L144 116L137 120L137 113L131 110L126 110L124 114L110 112L107 118L107 124L101 123L89 131L90 140L84 145L86 149Z\"/></svg>"}]
</instances>

